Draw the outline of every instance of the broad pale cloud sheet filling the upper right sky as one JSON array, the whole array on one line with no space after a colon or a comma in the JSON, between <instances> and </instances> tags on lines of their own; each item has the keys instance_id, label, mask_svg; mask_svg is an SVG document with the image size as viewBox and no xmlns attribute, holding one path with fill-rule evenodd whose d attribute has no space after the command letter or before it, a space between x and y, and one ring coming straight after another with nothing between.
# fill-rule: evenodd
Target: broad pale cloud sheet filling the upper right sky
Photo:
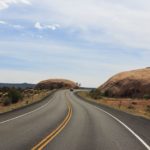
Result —
<instances>
[{"instance_id":1,"label":"broad pale cloud sheet filling the upper right sky","mask_svg":"<svg viewBox=\"0 0 150 150\"><path fill-rule=\"evenodd\" d=\"M78 33L80 39L150 48L148 0L49 0L44 3L36 0L33 3L37 6L36 10L44 10L38 14L40 21L51 19L58 22L68 32ZM36 18L36 14L32 15Z\"/></svg>"}]
</instances>

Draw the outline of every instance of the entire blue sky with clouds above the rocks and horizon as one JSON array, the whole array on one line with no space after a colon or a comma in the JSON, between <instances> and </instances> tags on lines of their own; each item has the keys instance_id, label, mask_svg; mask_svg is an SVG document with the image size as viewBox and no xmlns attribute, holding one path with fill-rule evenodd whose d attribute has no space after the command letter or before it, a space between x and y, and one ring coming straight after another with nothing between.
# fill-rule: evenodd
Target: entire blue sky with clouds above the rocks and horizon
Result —
<instances>
[{"instance_id":1,"label":"entire blue sky with clouds above the rocks and horizon","mask_svg":"<svg viewBox=\"0 0 150 150\"><path fill-rule=\"evenodd\" d=\"M97 87L149 66L148 0L0 0L0 82Z\"/></svg>"}]
</instances>

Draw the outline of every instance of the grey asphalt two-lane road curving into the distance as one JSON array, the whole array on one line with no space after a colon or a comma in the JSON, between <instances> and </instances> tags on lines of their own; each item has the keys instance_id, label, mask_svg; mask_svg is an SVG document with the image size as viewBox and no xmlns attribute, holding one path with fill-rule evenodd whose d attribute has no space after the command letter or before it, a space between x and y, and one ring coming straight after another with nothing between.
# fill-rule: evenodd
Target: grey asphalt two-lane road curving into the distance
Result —
<instances>
[{"instance_id":1,"label":"grey asphalt two-lane road curving into the distance","mask_svg":"<svg viewBox=\"0 0 150 150\"><path fill-rule=\"evenodd\" d=\"M147 122L150 124L150 121ZM133 128L131 129L134 130ZM140 135L146 130L150 131L144 128L139 132ZM148 142L146 141L145 144ZM146 150L148 148L148 144L144 145L113 116L82 101L67 90L58 91L39 104L0 115L1 150Z\"/></svg>"}]
</instances>

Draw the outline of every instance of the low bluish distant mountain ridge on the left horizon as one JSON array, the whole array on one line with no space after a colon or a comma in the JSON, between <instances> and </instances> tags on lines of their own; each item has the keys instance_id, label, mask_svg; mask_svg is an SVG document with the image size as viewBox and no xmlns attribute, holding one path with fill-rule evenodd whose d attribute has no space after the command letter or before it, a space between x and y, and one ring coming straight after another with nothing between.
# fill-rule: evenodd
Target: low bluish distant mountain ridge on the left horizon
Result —
<instances>
[{"instance_id":1,"label":"low bluish distant mountain ridge on the left horizon","mask_svg":"<svg viewBox=\"0 0 150 150\"><path fill-rule=\"evenodd\" d=\"M29 84L29 83L0 83L0 88L3 87L8 87L8 88L21 88L21 89L26 89L26 88L34 88L35 84Z\"/></svg>"}]
</instances>

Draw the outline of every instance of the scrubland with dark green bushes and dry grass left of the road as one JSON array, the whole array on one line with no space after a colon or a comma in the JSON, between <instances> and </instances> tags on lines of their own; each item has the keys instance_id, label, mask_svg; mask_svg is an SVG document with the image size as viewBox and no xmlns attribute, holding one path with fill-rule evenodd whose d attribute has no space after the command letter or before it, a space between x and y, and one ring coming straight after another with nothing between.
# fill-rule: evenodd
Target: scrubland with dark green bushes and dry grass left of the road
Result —
<instances>
[{"instance_id":1,"label":"scrubland with dark green bushes and dry grass left of the road","mask_svg":"<svg viewBox=\"0 0 150 150\"><path fill-rule=\"evenodd\" d=\"M52 91L21 88L0 88L0 113L8 112L47 97Z\"/></svg>"}]
</instances>

